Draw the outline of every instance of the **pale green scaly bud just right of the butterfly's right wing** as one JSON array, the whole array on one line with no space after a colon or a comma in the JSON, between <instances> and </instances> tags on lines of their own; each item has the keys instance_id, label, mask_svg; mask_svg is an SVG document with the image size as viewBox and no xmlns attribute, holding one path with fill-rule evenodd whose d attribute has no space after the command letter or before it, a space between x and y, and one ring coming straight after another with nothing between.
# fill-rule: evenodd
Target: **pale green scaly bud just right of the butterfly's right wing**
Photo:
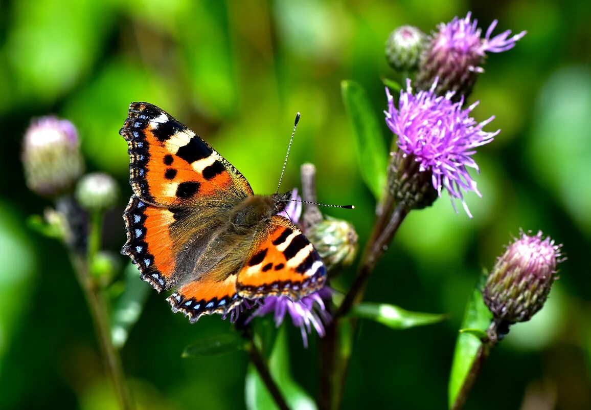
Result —
<instances>
[{"instance_id":1,"label":"pale green scaly bud just right of the butterfly's right wing","mask_svg":"<svg viewBox=\"0 0 591 410\"><path fill-rule=\"evenodd\" d=\"M357 253L358 236L355 228L342 219L327 217L306 231L328 270L353 263Z\"/></svg>"}]
</instances>

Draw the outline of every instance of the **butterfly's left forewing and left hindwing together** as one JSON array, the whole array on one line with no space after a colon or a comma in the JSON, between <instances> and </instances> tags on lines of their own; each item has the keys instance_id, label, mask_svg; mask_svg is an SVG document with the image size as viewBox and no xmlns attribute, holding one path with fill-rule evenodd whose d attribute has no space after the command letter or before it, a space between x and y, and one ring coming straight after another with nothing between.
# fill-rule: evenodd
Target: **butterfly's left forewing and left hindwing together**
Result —
<instances>
[{"instance_id":1,"label":"butterfly's left forewing and left hindwing together","mask_svg":"<svg viewBox=\"0 0 591 410\"><path fill-rule=\"evenodd\" d=\"M251 187L209 144L157 106L132 103L120 134L128 141L134 190L124 213L127 241L121 252L158 292L205 279L190 263L206 251L225 212L252 195Z\"/></svg>"}]
</instances>

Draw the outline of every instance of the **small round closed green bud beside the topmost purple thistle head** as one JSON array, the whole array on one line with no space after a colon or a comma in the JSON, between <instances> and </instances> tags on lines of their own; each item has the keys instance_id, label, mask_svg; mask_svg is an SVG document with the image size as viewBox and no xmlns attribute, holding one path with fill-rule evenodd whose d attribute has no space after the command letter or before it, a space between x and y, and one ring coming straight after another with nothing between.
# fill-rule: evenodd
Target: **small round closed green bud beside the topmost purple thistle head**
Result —
<instances>
[{"instance_id":1,"label":"small round closed green bud beside the topmost purple thistle head","mask_svg":"<svg viewBox=\"0 0 591 410\"><path fill-rule=\"evenodd\" d=\"M417 27L403 25L390 33L386 41L386 60L399 71L414 71L425 48L427 35Z\"/></svg>"}]
</instances>

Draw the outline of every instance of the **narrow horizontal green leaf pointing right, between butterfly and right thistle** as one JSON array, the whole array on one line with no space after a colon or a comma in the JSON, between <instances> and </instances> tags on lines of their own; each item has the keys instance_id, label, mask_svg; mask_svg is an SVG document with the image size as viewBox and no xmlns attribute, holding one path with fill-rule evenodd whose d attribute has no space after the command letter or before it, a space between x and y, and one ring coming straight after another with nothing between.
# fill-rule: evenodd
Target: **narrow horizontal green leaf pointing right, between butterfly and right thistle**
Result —
<instances>
[{"instance_id":1,"label":"narrow horizontal green leaf pointing right, between butterfly and right thistle","mask_svg":"<svg viewBox=\"0 0 591 410\"><path fill-rule=\"evenodd\" d=\"M397 330L430 325L446 318L446 315L409 312L400 306L372 303L362 303L355 306L352 314L359 318L374 320Z\"/></svg>"}]
</instances>

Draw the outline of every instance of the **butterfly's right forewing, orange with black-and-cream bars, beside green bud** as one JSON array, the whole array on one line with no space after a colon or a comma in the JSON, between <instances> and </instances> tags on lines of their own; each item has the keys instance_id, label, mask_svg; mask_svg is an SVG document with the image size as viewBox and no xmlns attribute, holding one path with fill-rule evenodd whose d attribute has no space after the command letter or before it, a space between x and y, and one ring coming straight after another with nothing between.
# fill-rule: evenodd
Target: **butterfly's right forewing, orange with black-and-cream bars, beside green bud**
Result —
<instances>
[{"instance_id":1,"label":"butterfly's right forewing, orange with black-and-cream bars, beside green bud","mask_svg":"<svg viewBox=\"0 0 591 410\"><path fill-rule=\"evenodd\" d=\"M238 294L256 299L284 295L299 300L324 286L326 267L303 233L280 215L254 241L238 273Z\"/></svg>"}]
</instances>

